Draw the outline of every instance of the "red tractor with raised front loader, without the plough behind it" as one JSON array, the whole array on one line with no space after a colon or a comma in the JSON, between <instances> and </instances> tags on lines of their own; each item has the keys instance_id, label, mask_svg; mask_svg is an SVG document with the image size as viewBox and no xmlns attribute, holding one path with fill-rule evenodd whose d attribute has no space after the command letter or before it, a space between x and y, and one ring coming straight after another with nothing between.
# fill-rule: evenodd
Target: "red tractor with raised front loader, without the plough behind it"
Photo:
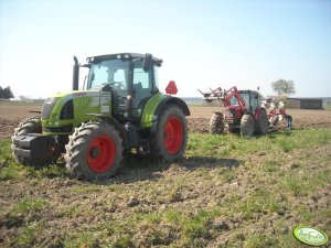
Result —
<instances>
[{"instance_id":1,"label":"red tractor with raised front loader, without the plough behind it","mask_svg":"<svg viewBox=\"0 0 331 248\"><path fill-rule=\"evenodd\" d=\"M250 137L253 133L265 134L269 131L268 115L261 107L261 96L255 90L238 90L232 87L228 90L222 90L221 87L211 93L199 90L204 100L222 100L225 107L224 114L214 112L210 121L210 133L223 133L225 125L229 131L239 130L244 137Z\"/></svg>"}]
</instances>

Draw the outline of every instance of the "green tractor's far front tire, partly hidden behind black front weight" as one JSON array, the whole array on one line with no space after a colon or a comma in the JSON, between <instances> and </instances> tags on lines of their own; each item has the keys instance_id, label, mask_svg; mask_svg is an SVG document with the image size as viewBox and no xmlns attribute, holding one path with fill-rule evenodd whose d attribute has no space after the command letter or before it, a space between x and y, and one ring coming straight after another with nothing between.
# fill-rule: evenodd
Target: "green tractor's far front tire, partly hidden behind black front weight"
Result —
<instances>
[{"instance_id":1,"label":"green tractor's far front tire, partly hidden behind black front weight","mask_svg":"<svg viewBox=\"0 0 331 248\"><path fill-rule=\"evenodd\" d=\"M41 118L40 116L34 116L34 117L29 117L25 120L23 120L22 122L20 122L19 127L14 129L14 133L11 137L11 140L13 141L13 139L18 136L23 136L23 134L28 134L28 133L42 133L42 125L41 125ZM38 160L38 159L31 159L31 158L26 158L20 154L15 154L14 149L18 148L13 142L11 144L11 151L12 151L12 157L13 159L25 165L36 165L36 166L43 166L43 165L47 165L51 164L53 162L56 161L56 159L58 158L58 154L53 153L52 157L46 158L44 160Z\"/></svg>"}]
</instances>

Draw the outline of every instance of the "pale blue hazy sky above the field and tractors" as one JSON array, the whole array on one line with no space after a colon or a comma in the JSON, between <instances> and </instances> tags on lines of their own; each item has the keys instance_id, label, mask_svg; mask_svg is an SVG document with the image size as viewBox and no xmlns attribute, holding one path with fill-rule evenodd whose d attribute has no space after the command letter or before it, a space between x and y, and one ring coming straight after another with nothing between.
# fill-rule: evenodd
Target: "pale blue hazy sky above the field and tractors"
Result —
<instances>
[{"instance_id":1,"label":"pale blue hazy sky above the field and tractors","mask_svg":"<svg viewBox=\"0 0 331 248\"><path fill-rule=\"evenodd\" d=\"M0 86L15 97L71 90L74 55L119 52L162 58L160 89L174 80L181 97L267 96L280 78L331 97L331 1L0 0Z\"/></svg>"}]
</instances>

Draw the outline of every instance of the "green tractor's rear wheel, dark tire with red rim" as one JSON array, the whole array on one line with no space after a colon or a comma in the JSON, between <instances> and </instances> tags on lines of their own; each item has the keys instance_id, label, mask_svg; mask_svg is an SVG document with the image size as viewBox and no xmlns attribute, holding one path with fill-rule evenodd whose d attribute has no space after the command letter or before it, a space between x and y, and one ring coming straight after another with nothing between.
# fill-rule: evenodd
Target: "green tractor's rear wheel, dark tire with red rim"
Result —
<instances>
[{"instance_id":1,"label":"green tractor's rear wheel, dark tire with red rim","mask_svg":"<svg viewBox=\"0 0 331 248\"><path fill-rule=\"evenodd\" d=\"M167 107L150 141L151 157L172 162L183 155L186 142L188 123L184 114L177 106Z\"/></svg>"}]
</instances>

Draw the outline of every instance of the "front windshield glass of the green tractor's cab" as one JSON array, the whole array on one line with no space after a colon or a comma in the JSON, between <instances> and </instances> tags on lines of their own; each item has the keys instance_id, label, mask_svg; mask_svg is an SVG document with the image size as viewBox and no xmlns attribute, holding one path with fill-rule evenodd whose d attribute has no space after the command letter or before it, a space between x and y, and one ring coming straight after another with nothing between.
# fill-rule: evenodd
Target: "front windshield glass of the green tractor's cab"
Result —
<instances>
[{"instance_id":1,"label":"front windshield glass of the green tractor's cab","mask_svg":"<svg viewBox=\"0 0 331 248\"><path fill-rule=\"evenodd\" d=\"M128 89L129 62L108 60L94 63L88 73L87 88L99 88L109 85L125 94Z\"/></svg>"}]
</instances>

